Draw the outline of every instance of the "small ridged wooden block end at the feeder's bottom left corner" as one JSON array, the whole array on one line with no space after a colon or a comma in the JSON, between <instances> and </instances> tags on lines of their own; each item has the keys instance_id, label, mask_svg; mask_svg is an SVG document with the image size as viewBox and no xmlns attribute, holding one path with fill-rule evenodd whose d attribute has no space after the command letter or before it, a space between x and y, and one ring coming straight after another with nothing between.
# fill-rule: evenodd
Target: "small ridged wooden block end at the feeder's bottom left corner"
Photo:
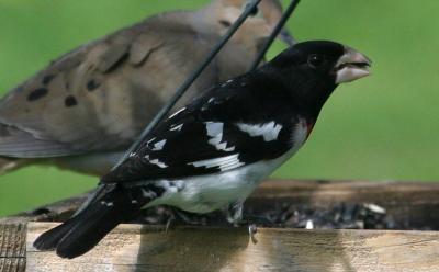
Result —
<instances>
[{"instance_id":1,"label":"small ridged wooden block end at the feeder's bottom left corner","mask_svg":"<svg viewBox=\"0 0 439 272\"><path fill-rule=\"evenodd\" d=\"M24 224L0 225L0 271L21 272L25 269Z\"/></svg>"}]
</instances>

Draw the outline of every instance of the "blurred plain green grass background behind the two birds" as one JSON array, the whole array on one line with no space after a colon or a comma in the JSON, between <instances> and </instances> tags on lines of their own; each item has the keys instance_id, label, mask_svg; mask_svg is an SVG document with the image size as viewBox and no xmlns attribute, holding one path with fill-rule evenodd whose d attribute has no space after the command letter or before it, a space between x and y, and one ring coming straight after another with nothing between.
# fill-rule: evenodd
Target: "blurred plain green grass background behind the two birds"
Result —
<instances>
[{"instance_id":1,"label":"blurred plain green grass background behind the two birds","mask_svg":"<svg viewBox=\"0 0 439 272\"><path fill-rule=\"evenodd\" d=\"M71 48L150 14L206 0L0 0L0 93ZM288 3L288 1L283 1ZM439 180L439 1L302 0L289 29L373 59L337 89L277 178ZM277 44L270 57L282 49ZM0 216L93 188L97 178L29 167L0 177Z\"/></svg>"}]
</instances>

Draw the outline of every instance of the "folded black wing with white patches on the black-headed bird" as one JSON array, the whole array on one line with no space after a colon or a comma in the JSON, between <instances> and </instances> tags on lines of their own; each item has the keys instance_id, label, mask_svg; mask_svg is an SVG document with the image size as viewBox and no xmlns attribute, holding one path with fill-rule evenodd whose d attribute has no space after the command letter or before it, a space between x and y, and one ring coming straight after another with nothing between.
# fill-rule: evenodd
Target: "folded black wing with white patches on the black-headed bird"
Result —
<instances>
[{"instance_id":1,"label":"folded black wing with white patches on the black-headed bird","mask_svg":"<svg viewBox=\"0 0 439 272\"><path fill-rule=\"evenodd\" d=\"M293 122L281 89L241 77L210 90L162 122L101 182L179 179L280 157L291 148Z\"/></svg>"}]
</instances>

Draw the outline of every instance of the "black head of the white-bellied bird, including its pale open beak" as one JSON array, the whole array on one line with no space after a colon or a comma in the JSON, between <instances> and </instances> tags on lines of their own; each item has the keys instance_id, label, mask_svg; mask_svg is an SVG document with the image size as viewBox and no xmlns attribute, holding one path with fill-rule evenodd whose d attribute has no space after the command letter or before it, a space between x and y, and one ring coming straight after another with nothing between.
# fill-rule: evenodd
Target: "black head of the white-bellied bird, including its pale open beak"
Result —
<instances>
[{"instance_id":1,"label":"black head of the white-bellied bird, including its pale open beak","mask_svg":"<svg viewBox=\"0 0 439 272\"><path fill-rule=\"evenodd\" d=\"M297 43L264 65L266 70L291 87L294 97L317 101L318 106L344 82L370 75L371 60L349 46L328 42Z\"/></svg>"}]
</instances>

